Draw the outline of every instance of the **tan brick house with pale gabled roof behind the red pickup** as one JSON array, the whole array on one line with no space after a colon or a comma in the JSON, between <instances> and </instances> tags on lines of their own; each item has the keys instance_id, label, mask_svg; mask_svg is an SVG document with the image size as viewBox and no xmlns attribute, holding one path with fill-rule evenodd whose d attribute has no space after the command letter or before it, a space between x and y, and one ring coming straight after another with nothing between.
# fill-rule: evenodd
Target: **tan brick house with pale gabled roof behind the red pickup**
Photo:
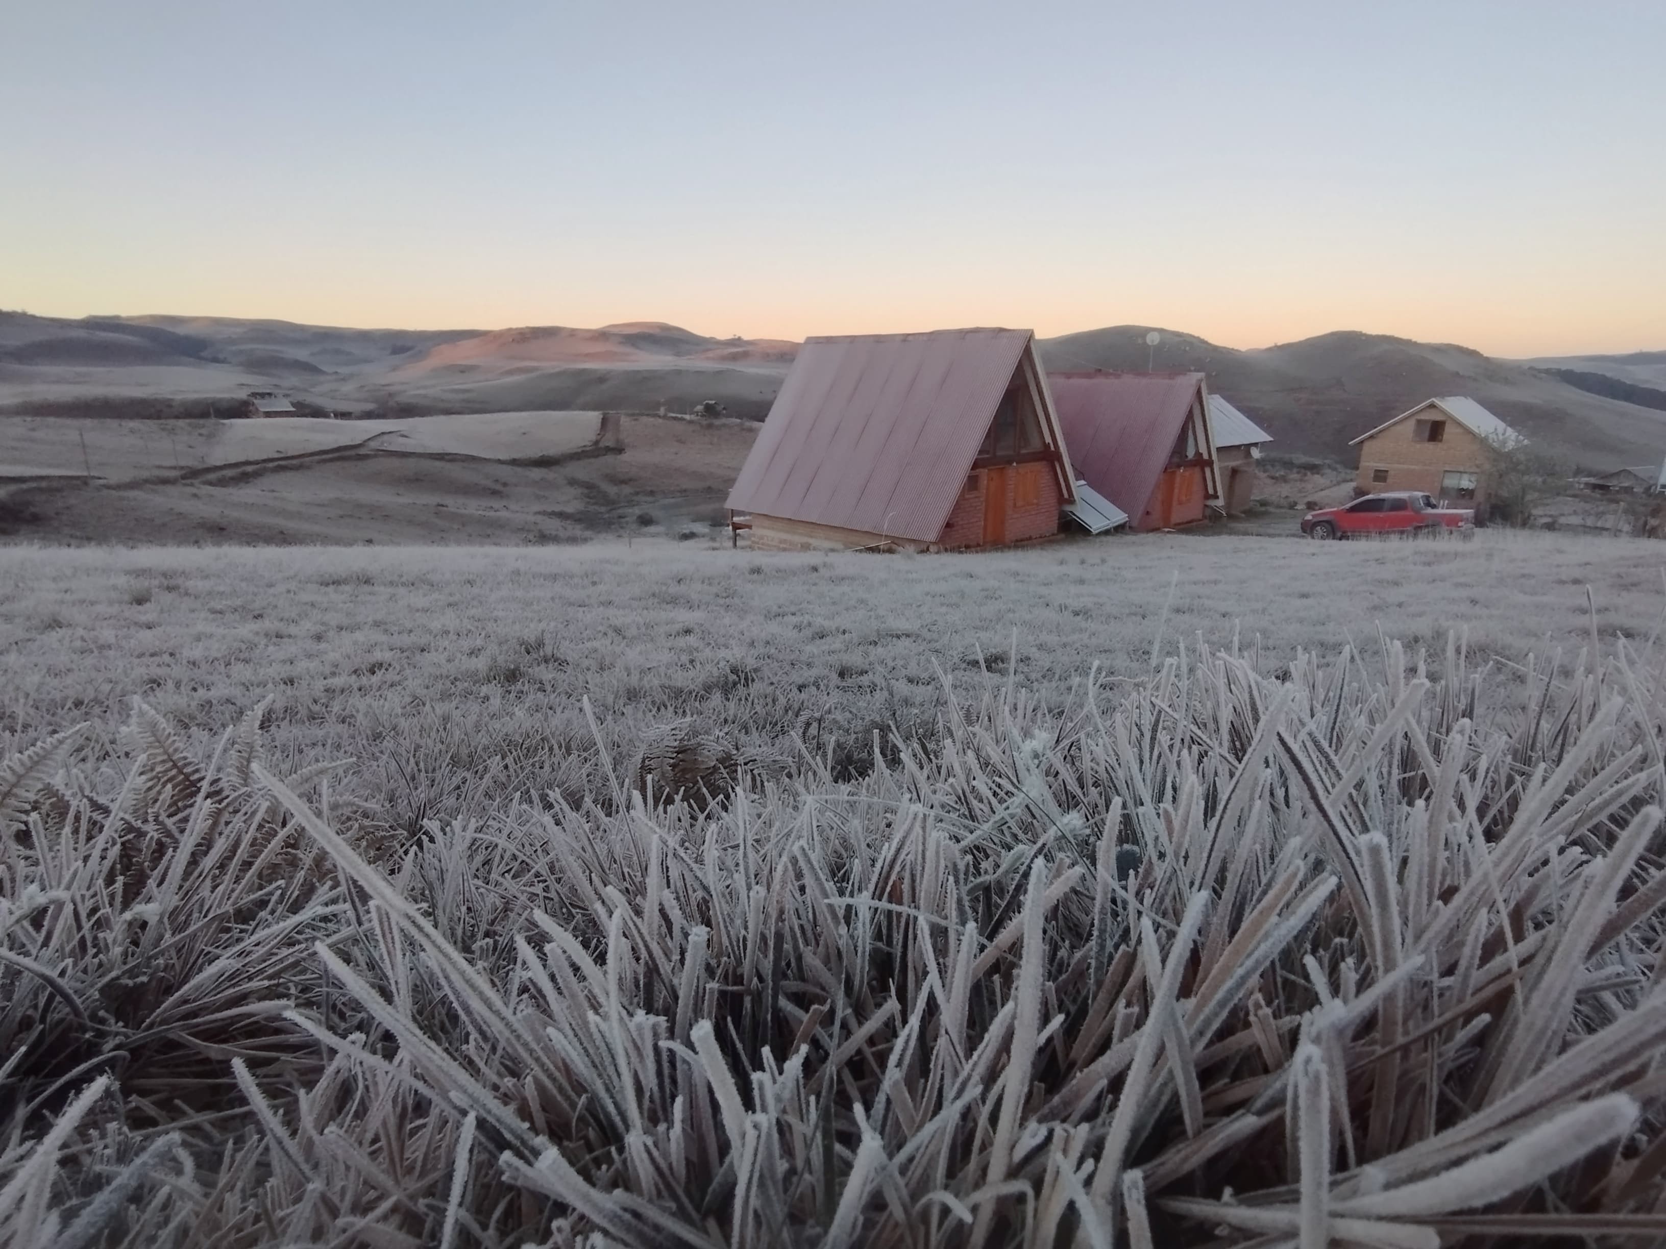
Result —
<instances>
[{"instance_id":1,"label":"tan brick house with pale gabled roof behind the red pickup","mask_svg":"<svg viewBox=\"0 0 1666 1249\"><path fill-rule=\"evenodd\" d=\"M1363 495L1418 490L1434 498L1484 501L1491 445L1514 445L1521 435L1479 403L1463 396L1428 400L1354 438Z\"/></svg>"}]
</instances>

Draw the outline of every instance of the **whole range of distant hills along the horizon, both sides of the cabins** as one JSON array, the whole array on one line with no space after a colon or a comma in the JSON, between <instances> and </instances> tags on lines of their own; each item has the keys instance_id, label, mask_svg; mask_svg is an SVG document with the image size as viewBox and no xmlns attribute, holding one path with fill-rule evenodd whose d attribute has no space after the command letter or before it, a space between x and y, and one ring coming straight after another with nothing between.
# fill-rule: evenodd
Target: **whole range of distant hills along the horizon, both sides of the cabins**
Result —
<instances>
[{"instance_id":1,"label":"whole range of distant hills along the horizon, both sides of the cabins","mask_svg":"<svg viewBox=\"0 0 1666 1249\"><path fill-rule=\"evenodd\" d=\"M1053 370L1140 371L1151 328L1048 338L1041 358ZM1546 371L1666 388L1666 351L1511 361L1356 331L1235 350L1156 328L1151 366L1206 373L1213 390L1278 440L1274 451L1348 461L1351 438L1438 395L1469 395L1589 468L1654 463L1666 451L1666 413L1638 401L1646 396ZM222 316L0 313L0 411L207 415L210 405L223 411L250 390L280 390L322 408L403 415L661 405L686 411L718 400L736 416L761 418L796 350L663 321L350 330Z\"/></svg>"}]
</instances>

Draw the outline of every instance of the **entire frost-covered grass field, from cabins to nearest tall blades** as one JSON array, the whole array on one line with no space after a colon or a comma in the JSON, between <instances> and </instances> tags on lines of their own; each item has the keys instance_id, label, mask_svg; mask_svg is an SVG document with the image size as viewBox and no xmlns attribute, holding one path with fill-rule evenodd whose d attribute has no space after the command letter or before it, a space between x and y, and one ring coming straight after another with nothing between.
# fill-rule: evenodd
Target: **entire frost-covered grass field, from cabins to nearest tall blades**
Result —
<instances>
[{"instance_id":1,"label":"entire frost-covered grass field, from cabins to nearest tall blades","mask_svg":"<svg viewBox=\"0 0 1666 1249\"><path fill-rule=\"evenodd\" d=\"M1659 1244L1653 551L0 551L0 1244Z\"/></svg>"}]
</instances>

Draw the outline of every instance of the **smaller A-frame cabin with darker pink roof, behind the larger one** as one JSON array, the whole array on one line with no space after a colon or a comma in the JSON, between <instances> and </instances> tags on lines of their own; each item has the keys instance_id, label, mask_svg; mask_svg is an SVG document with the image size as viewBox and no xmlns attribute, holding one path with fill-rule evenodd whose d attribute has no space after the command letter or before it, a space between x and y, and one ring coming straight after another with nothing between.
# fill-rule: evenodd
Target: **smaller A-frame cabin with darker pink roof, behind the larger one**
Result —
<instances>
[{"instance_id":1,"label":"smaller A-frame cabin with darker pink roof, behind the larger one","mask_svg":"<svg viewBox=\"0 0 1666 1249\"><path fill-rule=\"evenodd\" d=\"M1220 498L1203 373L1051 373L1048 385L1071 463L1131 528L1195 525Z\"/></svg>"}]
</instances>

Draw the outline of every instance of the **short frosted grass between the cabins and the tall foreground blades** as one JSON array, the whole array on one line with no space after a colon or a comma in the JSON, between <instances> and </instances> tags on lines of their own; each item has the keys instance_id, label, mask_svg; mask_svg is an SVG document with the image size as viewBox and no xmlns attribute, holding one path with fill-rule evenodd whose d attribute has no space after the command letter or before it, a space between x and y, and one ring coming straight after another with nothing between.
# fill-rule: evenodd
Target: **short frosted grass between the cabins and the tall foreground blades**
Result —
<instances>
[{"instance_id":1,"label":"short frosted grass between the cabins and the tall foreground blades","mask_svg":"<svg viewBox=\"0 0 1666 1249\"><path fill-rule=\"evenodd\" d=\"M203 744L272 694L285 766L358 766L390 823L521 789L578 799L591 706L628 758L690 716L741 746L796 733L836 773L875 729L930 731L945 683L1016 679L1063 706L1200 636L1264 674L1378 629L1441 663L1524 664L1648 636L1666 546L1483 533L1471 543L1113 538L980 556L766 556L705 545L536 550L0 550L0 749L82 719L113 741L142 694ZM1594 600L1594 621L1586 590ZM1488 689L1519 694L1501 666Z\"/></svg>"}]
</instances>

